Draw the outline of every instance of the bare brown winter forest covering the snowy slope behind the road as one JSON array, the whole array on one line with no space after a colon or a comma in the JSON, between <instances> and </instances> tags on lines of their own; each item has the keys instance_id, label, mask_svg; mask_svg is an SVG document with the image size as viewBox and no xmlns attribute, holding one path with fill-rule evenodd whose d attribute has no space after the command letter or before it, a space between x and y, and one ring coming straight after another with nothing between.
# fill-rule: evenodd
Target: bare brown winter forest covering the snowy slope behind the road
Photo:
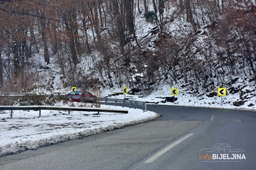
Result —
<instances>
[{"instance_id":1,"label":"bare brown winter forest covering the snowy slope behind the road","mask_svg":"<svg viewBox=\"0 0 256 170\"><path fill-rule=\"evenodd\" d=\"M247 0L0 0L1 91L31 91L53 64L64 88L256 81L255 16Z\"/></svg>"}]
</instances>

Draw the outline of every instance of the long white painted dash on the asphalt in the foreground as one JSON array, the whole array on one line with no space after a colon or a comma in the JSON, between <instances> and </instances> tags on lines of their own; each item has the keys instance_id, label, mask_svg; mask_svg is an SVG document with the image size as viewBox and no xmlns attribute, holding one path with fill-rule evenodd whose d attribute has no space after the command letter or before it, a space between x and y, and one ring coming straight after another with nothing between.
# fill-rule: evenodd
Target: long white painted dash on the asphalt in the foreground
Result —
<instances>
[{"instance_id":1,"label":"long white painted dash on the asphalt in the foreground","mask_svg":"<svg viewBox=\"0 0 256 170\"><path fill-rule=\"evenodd\" d=\"M168 152L171 148L175 147L176 145L178 145L179 143L181 143L183 140L186 140L188 137L191 137L193 135L193 133L189 133L188 135L182 137L181 139L177 140L176 142L172 143L171 145L165 147L164 149L161 149L161 151L157 152L156 154L154 154L152 157L150 157L149 159L147 159L144 163L152 163L154 162L156 159L158 159L159 157L161 157L161 155L165 154L166 152Z\"/></svg>"}]
</instances>

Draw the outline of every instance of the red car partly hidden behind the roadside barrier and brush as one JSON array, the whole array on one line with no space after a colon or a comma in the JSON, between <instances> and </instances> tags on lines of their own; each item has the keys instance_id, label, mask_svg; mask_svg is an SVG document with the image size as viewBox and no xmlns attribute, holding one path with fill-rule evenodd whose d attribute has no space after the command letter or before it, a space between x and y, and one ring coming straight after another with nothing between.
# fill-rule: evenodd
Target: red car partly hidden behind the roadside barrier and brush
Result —
<instances>
[{"instance_id":1,"label":"red car partly hidden behind the roadside barrier and brush","mask_svg":"<svg viewBox=\"0 0 256 170\"><path fill-rule=\"evenodd\" d=\"M66 98L69 101L92 103L97 97L86 91L72 91L69 94L66 94Z\"/></svg>"}]
</instances>

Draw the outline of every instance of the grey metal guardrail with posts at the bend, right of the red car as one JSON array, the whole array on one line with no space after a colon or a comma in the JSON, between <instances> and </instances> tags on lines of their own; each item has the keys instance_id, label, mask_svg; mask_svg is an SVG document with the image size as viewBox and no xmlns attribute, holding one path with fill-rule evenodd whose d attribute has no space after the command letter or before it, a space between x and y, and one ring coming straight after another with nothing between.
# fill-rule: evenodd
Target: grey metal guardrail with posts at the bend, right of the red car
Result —
<instances>
[{"instance_id":1,"label":"grey metal guardrail with posts at the bend, right of the red car","mask_svg":"<svg viewBox=\"0 0 256 170\"><path fill-rule=\"evenodd\" d=\"M103 101L105 105L107 105L107 103L114 103L114 106L117 106L117 103L121 103L122 107L124 107L125 104L129 104L129 108L137 108L137 106L142 106L144 111L146 111L146 102L144 101L132 101L125 98L97 98L96 101Z\"/></svg>"}]
</instances>

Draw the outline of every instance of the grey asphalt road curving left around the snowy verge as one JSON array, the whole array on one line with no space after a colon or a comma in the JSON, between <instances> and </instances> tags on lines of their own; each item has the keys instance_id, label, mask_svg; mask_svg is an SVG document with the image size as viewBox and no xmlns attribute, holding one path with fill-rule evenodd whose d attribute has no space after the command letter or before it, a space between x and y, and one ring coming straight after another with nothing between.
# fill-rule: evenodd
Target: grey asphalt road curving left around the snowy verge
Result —
<instances>
[{"instance_id":1,"label":"grey asphalt road curving left around the snowy verge","mask_svg":"<svg viewBox=\"0 0 256 170\"><path fill-rule=\"evenodd\" d=\"M256 113L148 106L163 115L0 157L0 169L256 169Z\"/></svg>"}]
</instances>

